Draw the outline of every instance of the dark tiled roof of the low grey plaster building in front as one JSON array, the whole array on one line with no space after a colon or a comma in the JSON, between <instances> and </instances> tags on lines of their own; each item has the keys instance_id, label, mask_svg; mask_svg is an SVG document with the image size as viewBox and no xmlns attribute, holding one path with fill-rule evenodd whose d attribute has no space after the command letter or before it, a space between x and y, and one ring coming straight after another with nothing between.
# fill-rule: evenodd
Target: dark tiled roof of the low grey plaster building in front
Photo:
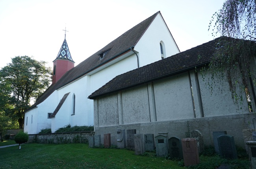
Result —
<instances>
[{"instance_id":1,"label":"dark tiled roof of the low grey plaster building in front","mask_svg":"<svg viewBox=\"0 0 256 169\"><path fill-rule=\"evenodd\" d=\"M93 99L104 94L148 83L208 64L213 53L219 51L221 48L219 47L220 39L221 37L181 53L177 53L171 57L118 75L106 83L106 85L93 92L88 98Z\"/></svg>"}]
</instances>

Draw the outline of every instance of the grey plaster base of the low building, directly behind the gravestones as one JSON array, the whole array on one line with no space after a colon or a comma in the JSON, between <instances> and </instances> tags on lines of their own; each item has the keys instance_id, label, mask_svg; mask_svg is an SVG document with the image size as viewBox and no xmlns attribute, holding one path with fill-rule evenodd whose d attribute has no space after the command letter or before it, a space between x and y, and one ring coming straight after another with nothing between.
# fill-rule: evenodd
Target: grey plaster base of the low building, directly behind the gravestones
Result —
<instances>
[{"instance_id":1,"label":"grey plaster base of the low building, directly behind the gravestones","mask_svg":"<svg viewBox=\"0 0 256 169\"><path fill-rule=\"evenodd\" d=\"M117 129L136 129L137 134L154 134L154 136L158 136L158 132L168 132L168 138L173 136L185 138L187 121L189 121L190 130L199 130L203 134L205 145L213 146L213 131L226 130L228 135L234 136L236 145L245 149L242 130L253 129L252 119L254 116L253 113L247 113L209 118L95 127L95 135L100 134L103 143L104 134L110 133L111 145L117 145Z\"/></svg>"}]
</instances>

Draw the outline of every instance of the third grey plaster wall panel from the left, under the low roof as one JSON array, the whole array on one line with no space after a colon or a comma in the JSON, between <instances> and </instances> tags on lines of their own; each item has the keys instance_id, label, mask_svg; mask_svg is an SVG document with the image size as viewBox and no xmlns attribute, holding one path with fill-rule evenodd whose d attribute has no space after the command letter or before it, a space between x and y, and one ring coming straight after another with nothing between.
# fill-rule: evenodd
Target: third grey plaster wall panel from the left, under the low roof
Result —
<instances>
[{"instance_id":1,"label":"third grey plaster wall panel from the left, under the low roof","mask_svg":"<svg viewBox=\"0 0 256 169\"><path fill-rule=\"evenodd\" d=\"M154 82L157 121L193 118L187 73Z\"/></svg>"}]
</instances>

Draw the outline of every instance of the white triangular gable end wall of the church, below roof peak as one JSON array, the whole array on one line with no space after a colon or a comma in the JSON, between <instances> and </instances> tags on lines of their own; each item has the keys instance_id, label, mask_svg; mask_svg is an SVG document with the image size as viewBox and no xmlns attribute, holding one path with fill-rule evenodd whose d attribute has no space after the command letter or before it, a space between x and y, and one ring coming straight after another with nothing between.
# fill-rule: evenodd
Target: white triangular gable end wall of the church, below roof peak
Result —
<instances>
[{"instance_id":1,"label":"white triangular gable end wall of the church, below roof peak","mask_svg":"<svg viewBox=\"0 0 256 169\"><path fill-rule=\"evenodd\" d=\"M134 48L140 53L140 67L161 60L161 41L165 46L166 57L179 53L163 18L158 14Z\"/></svg>"}]
</instances>

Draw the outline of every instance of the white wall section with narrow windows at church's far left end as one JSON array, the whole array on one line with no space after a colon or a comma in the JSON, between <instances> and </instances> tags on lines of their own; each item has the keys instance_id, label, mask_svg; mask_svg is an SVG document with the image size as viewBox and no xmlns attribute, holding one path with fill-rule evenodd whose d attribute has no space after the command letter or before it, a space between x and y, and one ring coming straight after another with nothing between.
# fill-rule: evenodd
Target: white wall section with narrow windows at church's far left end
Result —
<instances>
[{"instance_id":1,"label":"white wall section with narrow windows at church's far left end","mask_svg":"<svg viewBox=\"0 0 256 169\"><path fill-rule=\"evenodd\" d=\"M37 110L38 110L38 108L33 108L32 110L25 113L24 132L28 132L28 134L36 134L37 133L37 122L38 122ZM32 119L32 116L33 116L33 119Z\"/></svg>"}]
</instances>

